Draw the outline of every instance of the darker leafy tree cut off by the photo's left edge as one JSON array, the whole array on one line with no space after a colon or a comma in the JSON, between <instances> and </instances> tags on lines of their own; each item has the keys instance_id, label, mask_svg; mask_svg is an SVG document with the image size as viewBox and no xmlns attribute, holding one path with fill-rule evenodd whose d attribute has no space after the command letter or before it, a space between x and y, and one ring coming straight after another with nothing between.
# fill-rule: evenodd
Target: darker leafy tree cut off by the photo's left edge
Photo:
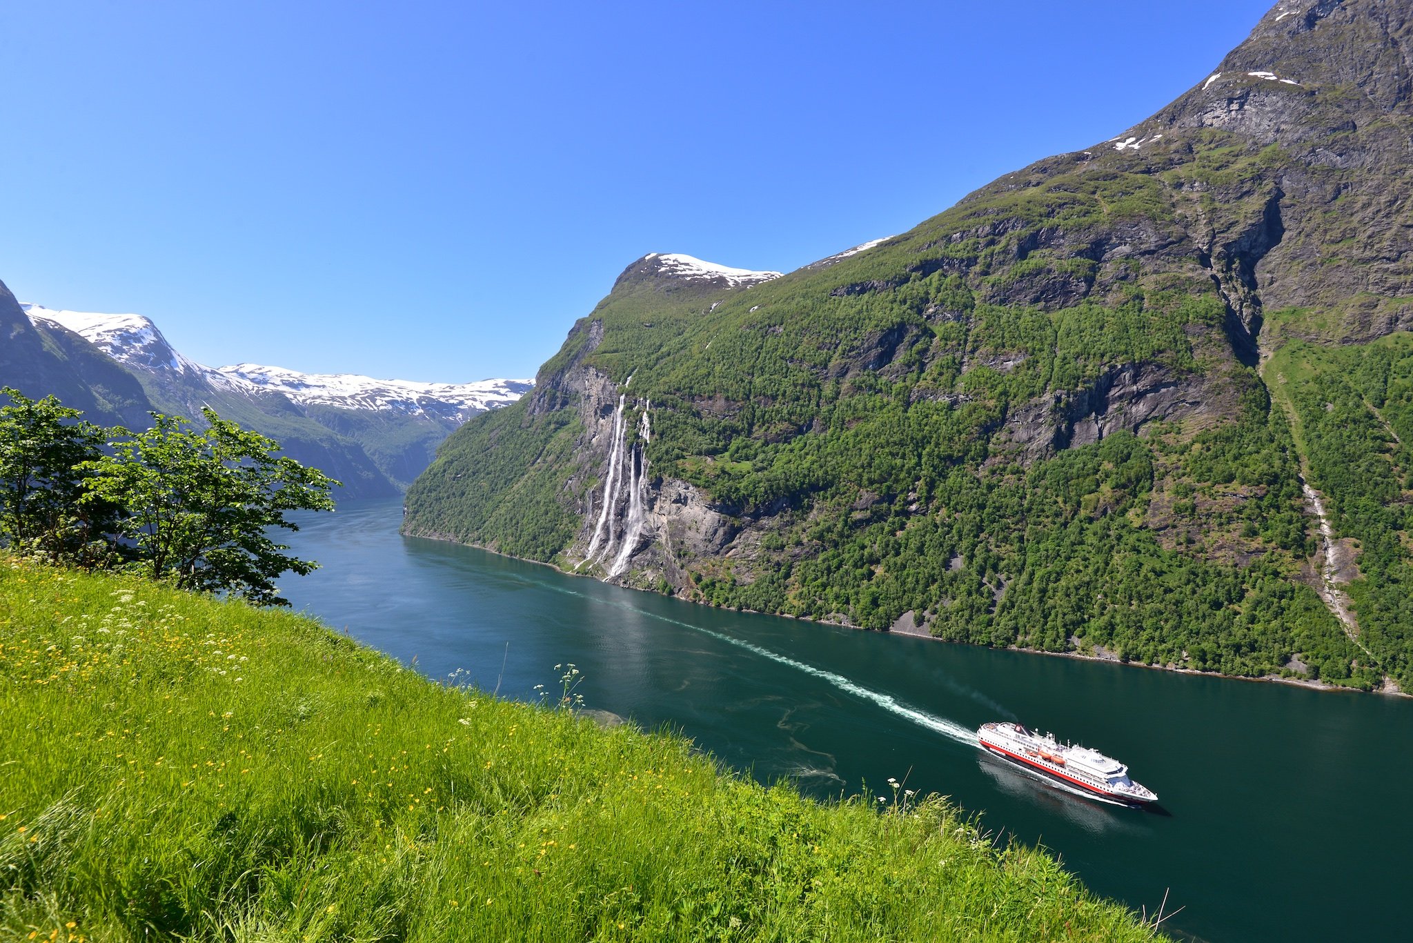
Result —
<instances>
[{"instance_id":1,"label":"darker leafy tree cut off by the photo's left edge","mask_svg":"<svg viewBox=\"0 0 1413 943\"><path fill-rule=\"evenodd\" d=\"M110 551L105 534L117 516L106 502L81 500L103 430L54 396L0 393L10 400L0 407L0 540L92 566Z\"/></svg>"}]
</instances>

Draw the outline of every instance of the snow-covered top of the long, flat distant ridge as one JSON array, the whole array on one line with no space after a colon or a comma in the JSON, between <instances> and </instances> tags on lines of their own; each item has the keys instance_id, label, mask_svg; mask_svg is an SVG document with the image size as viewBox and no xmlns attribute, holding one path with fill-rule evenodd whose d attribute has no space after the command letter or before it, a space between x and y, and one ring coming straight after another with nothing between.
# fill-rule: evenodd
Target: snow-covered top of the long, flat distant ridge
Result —
<instances>
[{"instance_id":1,"label":"snow-covered top of the long, flat distant ridge","mask_svg":"<svg viewBox=\"0 0 1413 943\"><path fill-rule=\"evenodd\" d=\"M417 383L376 380L356 373L300 373L280 366L237 363L219 372L232 380L284 393L295 403L343 409L432 413L463 423L478 413L507 406L534 387L534 380L479 380L476 383Z\"/></svg>"}]
</instances>

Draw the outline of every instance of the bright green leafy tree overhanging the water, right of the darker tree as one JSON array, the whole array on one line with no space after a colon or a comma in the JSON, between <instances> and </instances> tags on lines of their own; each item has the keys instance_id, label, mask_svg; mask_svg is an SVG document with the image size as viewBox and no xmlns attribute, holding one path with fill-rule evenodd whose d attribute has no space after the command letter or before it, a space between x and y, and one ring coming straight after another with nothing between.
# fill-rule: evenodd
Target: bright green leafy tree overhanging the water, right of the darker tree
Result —
<instances>
[{"instance_id":1,"label":"bright green leafy tree overhanging the water, right of the darker tree","mask_svg":"<svg viewBox=\"0 0 1413 943\"><path fill-rule=\"evenodd\" d=\"M225 590L261 605L288 605L274 580L318 567L288 556L273 527L298 530L287 510L332 510L338 482L288 457L271 438L203 409L206 430L153 413L154 426L112 443L113 452L88 462L88 500L127 510L120 533L137 547L140 566L184 590ZM126 431L126 430L124 430Z\"/></svg>"}]
</instances>

